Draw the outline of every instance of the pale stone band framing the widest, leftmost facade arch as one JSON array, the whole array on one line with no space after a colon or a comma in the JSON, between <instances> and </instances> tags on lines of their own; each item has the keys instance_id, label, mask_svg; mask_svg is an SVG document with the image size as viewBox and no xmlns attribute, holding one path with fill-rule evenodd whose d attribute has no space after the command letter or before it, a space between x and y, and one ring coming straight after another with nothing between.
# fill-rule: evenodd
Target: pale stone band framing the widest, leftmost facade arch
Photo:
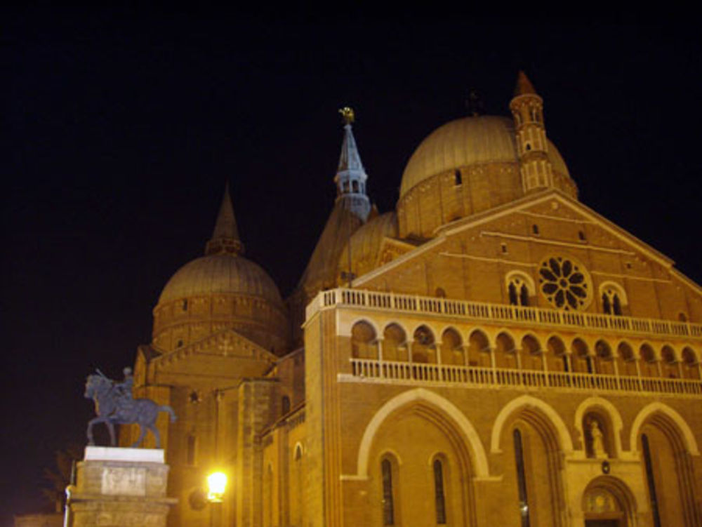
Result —
<instances>
[{"instance_id":1,"label":"pale stone band framing the widest, leftmost facade arch","mask_svg":"<svg viewBox=\"0 0 702 527\"><path fill-rule=\"evenodd\" d=\"M472 423L465 417L463 412L461 412L451 401L444 399L444 397L430 392L428 389L416 388L410 389L402 394L399 394L383 406L378 409L378 411L373 415L373 418L366 425L366 429L363 433L361 444L358 448L358 458L357 458L357 468L355 479L367 479L368 478L368 463L369 455L371 453L371 446L373 444L373 438L376 436L376 432L383 424L386 418L402 406L406 406L410 403L425 402L434 406L439 411L445 413L451 418L451 420L456 424L456 427L463 432L463 435L468 439L470 445L471 461L473 464L473 469L475 470L475 476L479 478L486 478L489 476L489 468L487 462L487 455L485 449L482 446L480 437L478 436L475 427Z\"/></svg>"}]
</instances>

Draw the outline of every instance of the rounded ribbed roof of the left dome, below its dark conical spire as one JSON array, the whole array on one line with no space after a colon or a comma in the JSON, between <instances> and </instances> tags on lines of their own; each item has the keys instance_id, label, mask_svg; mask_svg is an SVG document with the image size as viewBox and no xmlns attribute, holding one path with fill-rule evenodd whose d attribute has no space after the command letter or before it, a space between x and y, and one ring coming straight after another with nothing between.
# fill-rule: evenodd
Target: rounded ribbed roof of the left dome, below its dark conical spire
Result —
<instances>
[{"instance_id":1,"label":"rounded ribbed roof of the left dome, below its dark conical spire","mask_svg":"<svg viewBox=\"0 0 702 527\"><path fill-rule=\"evenodd\" d=\"M261 267L225 253L197 258L180 267L166 283L159 304L217 293L257 296L282 305L277 286Z\"/></svg>"}]
</instances>

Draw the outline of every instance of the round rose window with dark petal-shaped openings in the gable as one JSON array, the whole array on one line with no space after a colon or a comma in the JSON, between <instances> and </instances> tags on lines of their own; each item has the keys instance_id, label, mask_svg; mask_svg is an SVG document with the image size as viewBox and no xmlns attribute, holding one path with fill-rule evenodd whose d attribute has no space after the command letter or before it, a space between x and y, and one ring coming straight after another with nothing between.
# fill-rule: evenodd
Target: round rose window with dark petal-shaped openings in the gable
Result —
<instances>
[{"instance_id":1,"label":"round rose window with dark petal-shaped openings in the gable","mask_svg":"<svg viewBox=\"0 0 702 527\"><path fill-rule=\"evenodd\" d=\"M588 272L573 258L552 256L538 269L541 294L558 309L585 309L592 299L592 283Z\"/></svg>"}]
</instances>

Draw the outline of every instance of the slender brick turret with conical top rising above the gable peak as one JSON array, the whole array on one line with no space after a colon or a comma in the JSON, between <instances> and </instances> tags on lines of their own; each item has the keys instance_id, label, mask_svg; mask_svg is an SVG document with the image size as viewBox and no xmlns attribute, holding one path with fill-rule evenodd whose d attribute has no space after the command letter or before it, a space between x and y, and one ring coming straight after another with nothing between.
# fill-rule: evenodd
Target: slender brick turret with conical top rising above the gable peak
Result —
<instances>
[{"instance_id":1,"label":"slender brick turret with conical top rising above the gable peak","mask_svg":"<svg viewBox=\"0 0 702 527\"><path fill-rule=\"evenodd\" d=\"M554 187L553 168L548 159L548 141L543 124L543 99L524 72L517 76L515 96L510 101L515 120L519 171L524 192Z\"/></svg>"}]
</instances>

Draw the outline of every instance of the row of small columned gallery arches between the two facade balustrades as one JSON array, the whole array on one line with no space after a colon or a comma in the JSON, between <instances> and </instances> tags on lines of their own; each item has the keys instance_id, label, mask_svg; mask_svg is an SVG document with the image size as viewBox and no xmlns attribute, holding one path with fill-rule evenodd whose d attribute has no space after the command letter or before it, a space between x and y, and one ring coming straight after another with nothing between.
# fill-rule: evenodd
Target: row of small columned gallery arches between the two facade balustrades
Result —
<instances>
[{"instance_id":1,"label":"row of small columned gallery arches between the two facade balustrades","mask_svg":"<svg viewBox=\"0 0 702 527\"><path fill-rule=\"evenodd\" d=\"M700 379L697 352L689 346L654 347L647 342L583 338L565 340L558 335L541 342L527 333L517 340L501 331L494 340L474 329L468 338L453 327L439 338L427 324L420 324L411 338L399 323L388 323L378 335L370 321L357 321L351 329L352 356L357 359L441 363L537 371L565 371L645 378Z\"/></svg>"}]
</instances>

